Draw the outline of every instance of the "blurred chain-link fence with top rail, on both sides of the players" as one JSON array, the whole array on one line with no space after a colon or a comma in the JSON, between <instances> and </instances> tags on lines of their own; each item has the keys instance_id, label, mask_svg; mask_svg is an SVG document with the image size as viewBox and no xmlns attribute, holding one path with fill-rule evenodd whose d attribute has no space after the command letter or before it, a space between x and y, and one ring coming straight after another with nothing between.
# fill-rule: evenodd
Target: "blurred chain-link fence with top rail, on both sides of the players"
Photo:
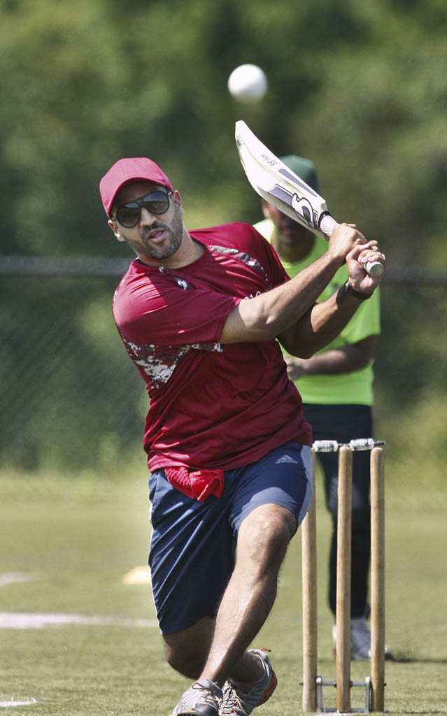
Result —
<instances>
[{"instance_id":1,"label":"blurred chain-link fence with top rail, on both sides of the players","mask_svg":"<svg viewBox=\"0 0 447 716\"><path fill-rule=\"evenodd\" d=\"M129 263L0 257L4 467L116 470L131 455L144 463L148 397L111 314ZM396 469L413 465L426 479L441 479L446 458L446 314L443 276L389 271L375 437L387 441Z\"/></svg>"}]
</instances>

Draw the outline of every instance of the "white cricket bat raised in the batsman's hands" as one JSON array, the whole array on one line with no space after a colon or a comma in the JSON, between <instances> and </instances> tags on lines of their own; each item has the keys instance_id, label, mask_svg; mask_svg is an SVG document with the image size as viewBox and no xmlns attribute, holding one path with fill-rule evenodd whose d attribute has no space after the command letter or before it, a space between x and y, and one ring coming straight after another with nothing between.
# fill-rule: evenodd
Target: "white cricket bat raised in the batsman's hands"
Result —
<instances>
[{"instance_id":1,"label":"white cricket bat raised in the batsman's hands","mask_svg":"<svg viewBox=\"0 0 447 716\"><path fill-rule=\"evenodd\" d=\"M272 154L242 120L236 122L236 147L247 179L259 196L309 231L330 238L338 224L325 199ZM383 273L380 261L368 261L364 267L371 276Z\"/></svg>"}]
</instances>

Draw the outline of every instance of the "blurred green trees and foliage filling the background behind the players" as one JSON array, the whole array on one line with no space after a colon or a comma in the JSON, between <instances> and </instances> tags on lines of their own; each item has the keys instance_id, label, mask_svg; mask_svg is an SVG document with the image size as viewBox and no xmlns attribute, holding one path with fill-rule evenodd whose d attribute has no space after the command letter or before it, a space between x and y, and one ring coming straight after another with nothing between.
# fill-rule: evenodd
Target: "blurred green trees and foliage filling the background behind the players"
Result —
<instances>
[{"instance_id":1,"label":"blurred green trees and foliage filling the background behind the players","mask_svg":"<svg viewBox=\"0 0 447 716\"><path fill-rule=\"evenodd\" d=\"M125 155L163 165L189 228L257 221L234 145L244 119L278 155L314 160L335 218L380 240L390 274L445 271L446 29L443 0L1 0L1 253L131 258L97 190ZM260 104L227 92L243 62L269 78ZM72 291L83 345L86 316L103 304ZM36 296L31 284L21 291L30 323ZM57 310L55 300L49 320ZM376 414L404 473L421 447L446 458L445 328L445 285L384 286ZM18 342L21 332L18 322ZM57 390L76 382L66 371ZM440 465L424 463L424 479L441 480Z\"/></svg>"}]
</instances>

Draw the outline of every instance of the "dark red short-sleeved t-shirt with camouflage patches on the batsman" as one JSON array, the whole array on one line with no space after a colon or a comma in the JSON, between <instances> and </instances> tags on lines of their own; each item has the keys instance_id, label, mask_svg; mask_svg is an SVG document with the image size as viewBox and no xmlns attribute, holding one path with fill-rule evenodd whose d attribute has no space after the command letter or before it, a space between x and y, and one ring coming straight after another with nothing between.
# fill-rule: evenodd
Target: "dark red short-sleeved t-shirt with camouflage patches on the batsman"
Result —
<instances>
[{"instance_id":1,"label":"dark red short-sleeved t-shirt with camouflage patches on the batsman","mask_svg":"<svg viewBox=\"0 0 447 716\"><path fill-rule=\"evenodd\" d=\"M145 380L143 446L150 470L252 463L284 442L312 442L302 401L275 340L220 344L231 309L288 281L276 253L246 223L191 231L203 255L181 269L135 259L113 316Z\"/></svg>"}]
</instances>

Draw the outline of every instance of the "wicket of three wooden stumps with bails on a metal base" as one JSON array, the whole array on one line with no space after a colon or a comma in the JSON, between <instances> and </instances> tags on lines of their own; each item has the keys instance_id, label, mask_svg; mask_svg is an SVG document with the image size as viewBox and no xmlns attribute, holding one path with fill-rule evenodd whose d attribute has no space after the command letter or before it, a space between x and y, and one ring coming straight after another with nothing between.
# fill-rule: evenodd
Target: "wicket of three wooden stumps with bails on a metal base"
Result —
<instances>
[{"instance_id":1,"label":"wicket of three wooden stumps with bails on a metal base","mask_svg":"<svg viewBox=\"0 0 447 716\"><path fill-rule=\"evenodd\" d=\"M372 438L339 445L314 442L313 495L302 523L303 691L304 712L371 712L384 710L385 687L385 470L383 441ZM315 453L338 450L337 602L335 681L317 674L317 518L315 510ZM352 451L371 450L371 662L365 682L352 682L351 662L351 507ZM324 707L322 687L336 690L335 708ZM365 690L365 707L351 707L351 688Z\"/></svg>"}]
</instances>

